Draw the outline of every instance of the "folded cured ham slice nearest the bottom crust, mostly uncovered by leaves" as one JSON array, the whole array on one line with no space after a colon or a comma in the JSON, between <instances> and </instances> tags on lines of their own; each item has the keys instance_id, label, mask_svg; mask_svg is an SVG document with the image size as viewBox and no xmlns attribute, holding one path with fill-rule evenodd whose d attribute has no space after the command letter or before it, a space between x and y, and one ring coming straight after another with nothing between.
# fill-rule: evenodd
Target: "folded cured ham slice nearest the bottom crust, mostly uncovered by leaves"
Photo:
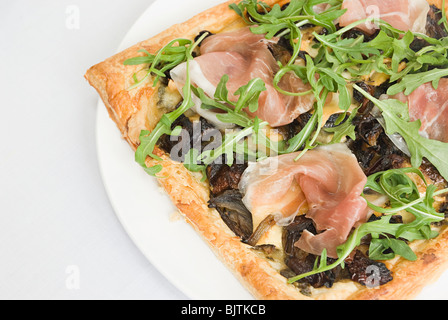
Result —
<instances>
[{"instance_id":1,"label":"folded cured ham slice nearest the bottom crust, mostly uncovered by leaves","mask_svg":"<svg viewBox=\"0 0 448 320\"><path fill-rule=\"evenodd\" d=\"M301 211L314 221L317 235L304 231L296 246L320 255L324 249L337 258L358 223L367 221L367 203L361 197L367 177L344 144L271 157L251 163L244 172L240 191L255 221L273 214L280 225L290 224Z\"/></svg>"}]
</instances>

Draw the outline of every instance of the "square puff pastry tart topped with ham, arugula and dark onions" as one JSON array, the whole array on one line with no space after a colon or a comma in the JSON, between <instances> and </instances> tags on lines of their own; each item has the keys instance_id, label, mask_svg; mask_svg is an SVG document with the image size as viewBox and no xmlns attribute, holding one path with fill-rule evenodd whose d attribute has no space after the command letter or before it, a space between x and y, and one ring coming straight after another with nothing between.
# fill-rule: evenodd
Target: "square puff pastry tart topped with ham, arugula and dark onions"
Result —
<instances>
[{"instance_id":1,"label":"square puff pastry tart topped with ham, arugula and dark onions","mask_svg":"<svg viewBox=\"0 0 448 320\"><path fill-rule=\"evenodd\" d=\"M411 299L448 265L446 12L227 1L85 77L255 298Z\"/></svg>"}]
</instances>

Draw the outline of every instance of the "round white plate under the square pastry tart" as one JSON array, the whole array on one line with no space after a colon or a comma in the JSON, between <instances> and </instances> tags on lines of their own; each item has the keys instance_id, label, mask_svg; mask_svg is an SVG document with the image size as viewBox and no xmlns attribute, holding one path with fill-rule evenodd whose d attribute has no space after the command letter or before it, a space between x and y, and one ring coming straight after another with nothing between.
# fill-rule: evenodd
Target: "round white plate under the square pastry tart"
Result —
<instances>
[{"instance_id":1,"label":"round white plate under the square pastry tart","mask_svg":"<svg viewBox=\"0 0 448 320\"><path fill-rule=\"evenodd\" d=\"M124 50L181 23L222 0L156 0L122 41ZM191 299L249 300L252 296L183 220L155 179L135 163L129 145L99 101L98 160L111 204L126 232L147 259ZM419 299L448 299L448 273Z\"/></svg>"}]
</instances>

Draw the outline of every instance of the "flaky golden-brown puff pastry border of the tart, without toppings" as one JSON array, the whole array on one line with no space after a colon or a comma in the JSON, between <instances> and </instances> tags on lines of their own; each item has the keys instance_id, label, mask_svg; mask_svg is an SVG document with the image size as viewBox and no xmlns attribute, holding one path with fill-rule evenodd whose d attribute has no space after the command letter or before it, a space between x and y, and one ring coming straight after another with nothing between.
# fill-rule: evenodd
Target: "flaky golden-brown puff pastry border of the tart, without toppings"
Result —
<instances>
[{"instance_id":1,"label":"flaky golden-brown puff pastry border of the tart, without toppings","mask_svg":"<svg viewBox=\"0 0 448 320\"><path fill-rule=\"evenodd\" d=\"M437 0L435 0L437 2ZM200 31L213 33L244 26L241 18L228 9L227 1L207 10L185 23L174 25L163 33L114 55L90 68L85 77L98 91L112 120L123 138L135 149L141 130L151 130L159 121L163 110L157 107L158 87L148 82L127 90L133 84L132 76L141 66L124 66L123 61L138 55L140 49L155 53L174 38L193 39ZM268 4L285 1L270 0ZM431 1L430 1L431 2ZM433 1L434 2L434 1ZM441 2L441 1L440 1ZM440 5L439 5L440 6ZM235 274L241 283L257 299L310 299L300 293L270 263L243 244L224 224L218 212L207 206L209 188L182 164L169 159L161 150L155 153L160 162L147 160L148 166L161 164L160 184L186 221L209 244L221 261ZM417 244L416 244L417 245ZM448 230L431 241L418 243L418 261L397 259L388 265L394 280L378 289L367 289L357 283L345 281L333 288L312 290L313 299L408 299L415 297L421 288L446 268L448 264Z\"/></svg>"}]
</instances>

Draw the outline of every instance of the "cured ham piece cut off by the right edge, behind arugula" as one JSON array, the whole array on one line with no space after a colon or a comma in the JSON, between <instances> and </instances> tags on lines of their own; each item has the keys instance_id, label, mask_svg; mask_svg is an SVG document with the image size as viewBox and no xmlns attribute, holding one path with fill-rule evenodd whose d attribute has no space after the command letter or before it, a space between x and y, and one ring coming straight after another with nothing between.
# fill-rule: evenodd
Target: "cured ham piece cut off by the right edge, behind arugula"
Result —
<instances>
[{"instance_id":1,"label":"cured ham piece cut off by the right edge, behind arugula","mask_svg":"<svg viewBox=\"0 0 448 320\"><path fill-rule=\"evenodd\" d=\"M401 93L392 98L408 103L410 120L422 122L422 136L448 143L448 79L440 79L437 89L429 82L407 97Z\"/></svg>"}]
</instances>

